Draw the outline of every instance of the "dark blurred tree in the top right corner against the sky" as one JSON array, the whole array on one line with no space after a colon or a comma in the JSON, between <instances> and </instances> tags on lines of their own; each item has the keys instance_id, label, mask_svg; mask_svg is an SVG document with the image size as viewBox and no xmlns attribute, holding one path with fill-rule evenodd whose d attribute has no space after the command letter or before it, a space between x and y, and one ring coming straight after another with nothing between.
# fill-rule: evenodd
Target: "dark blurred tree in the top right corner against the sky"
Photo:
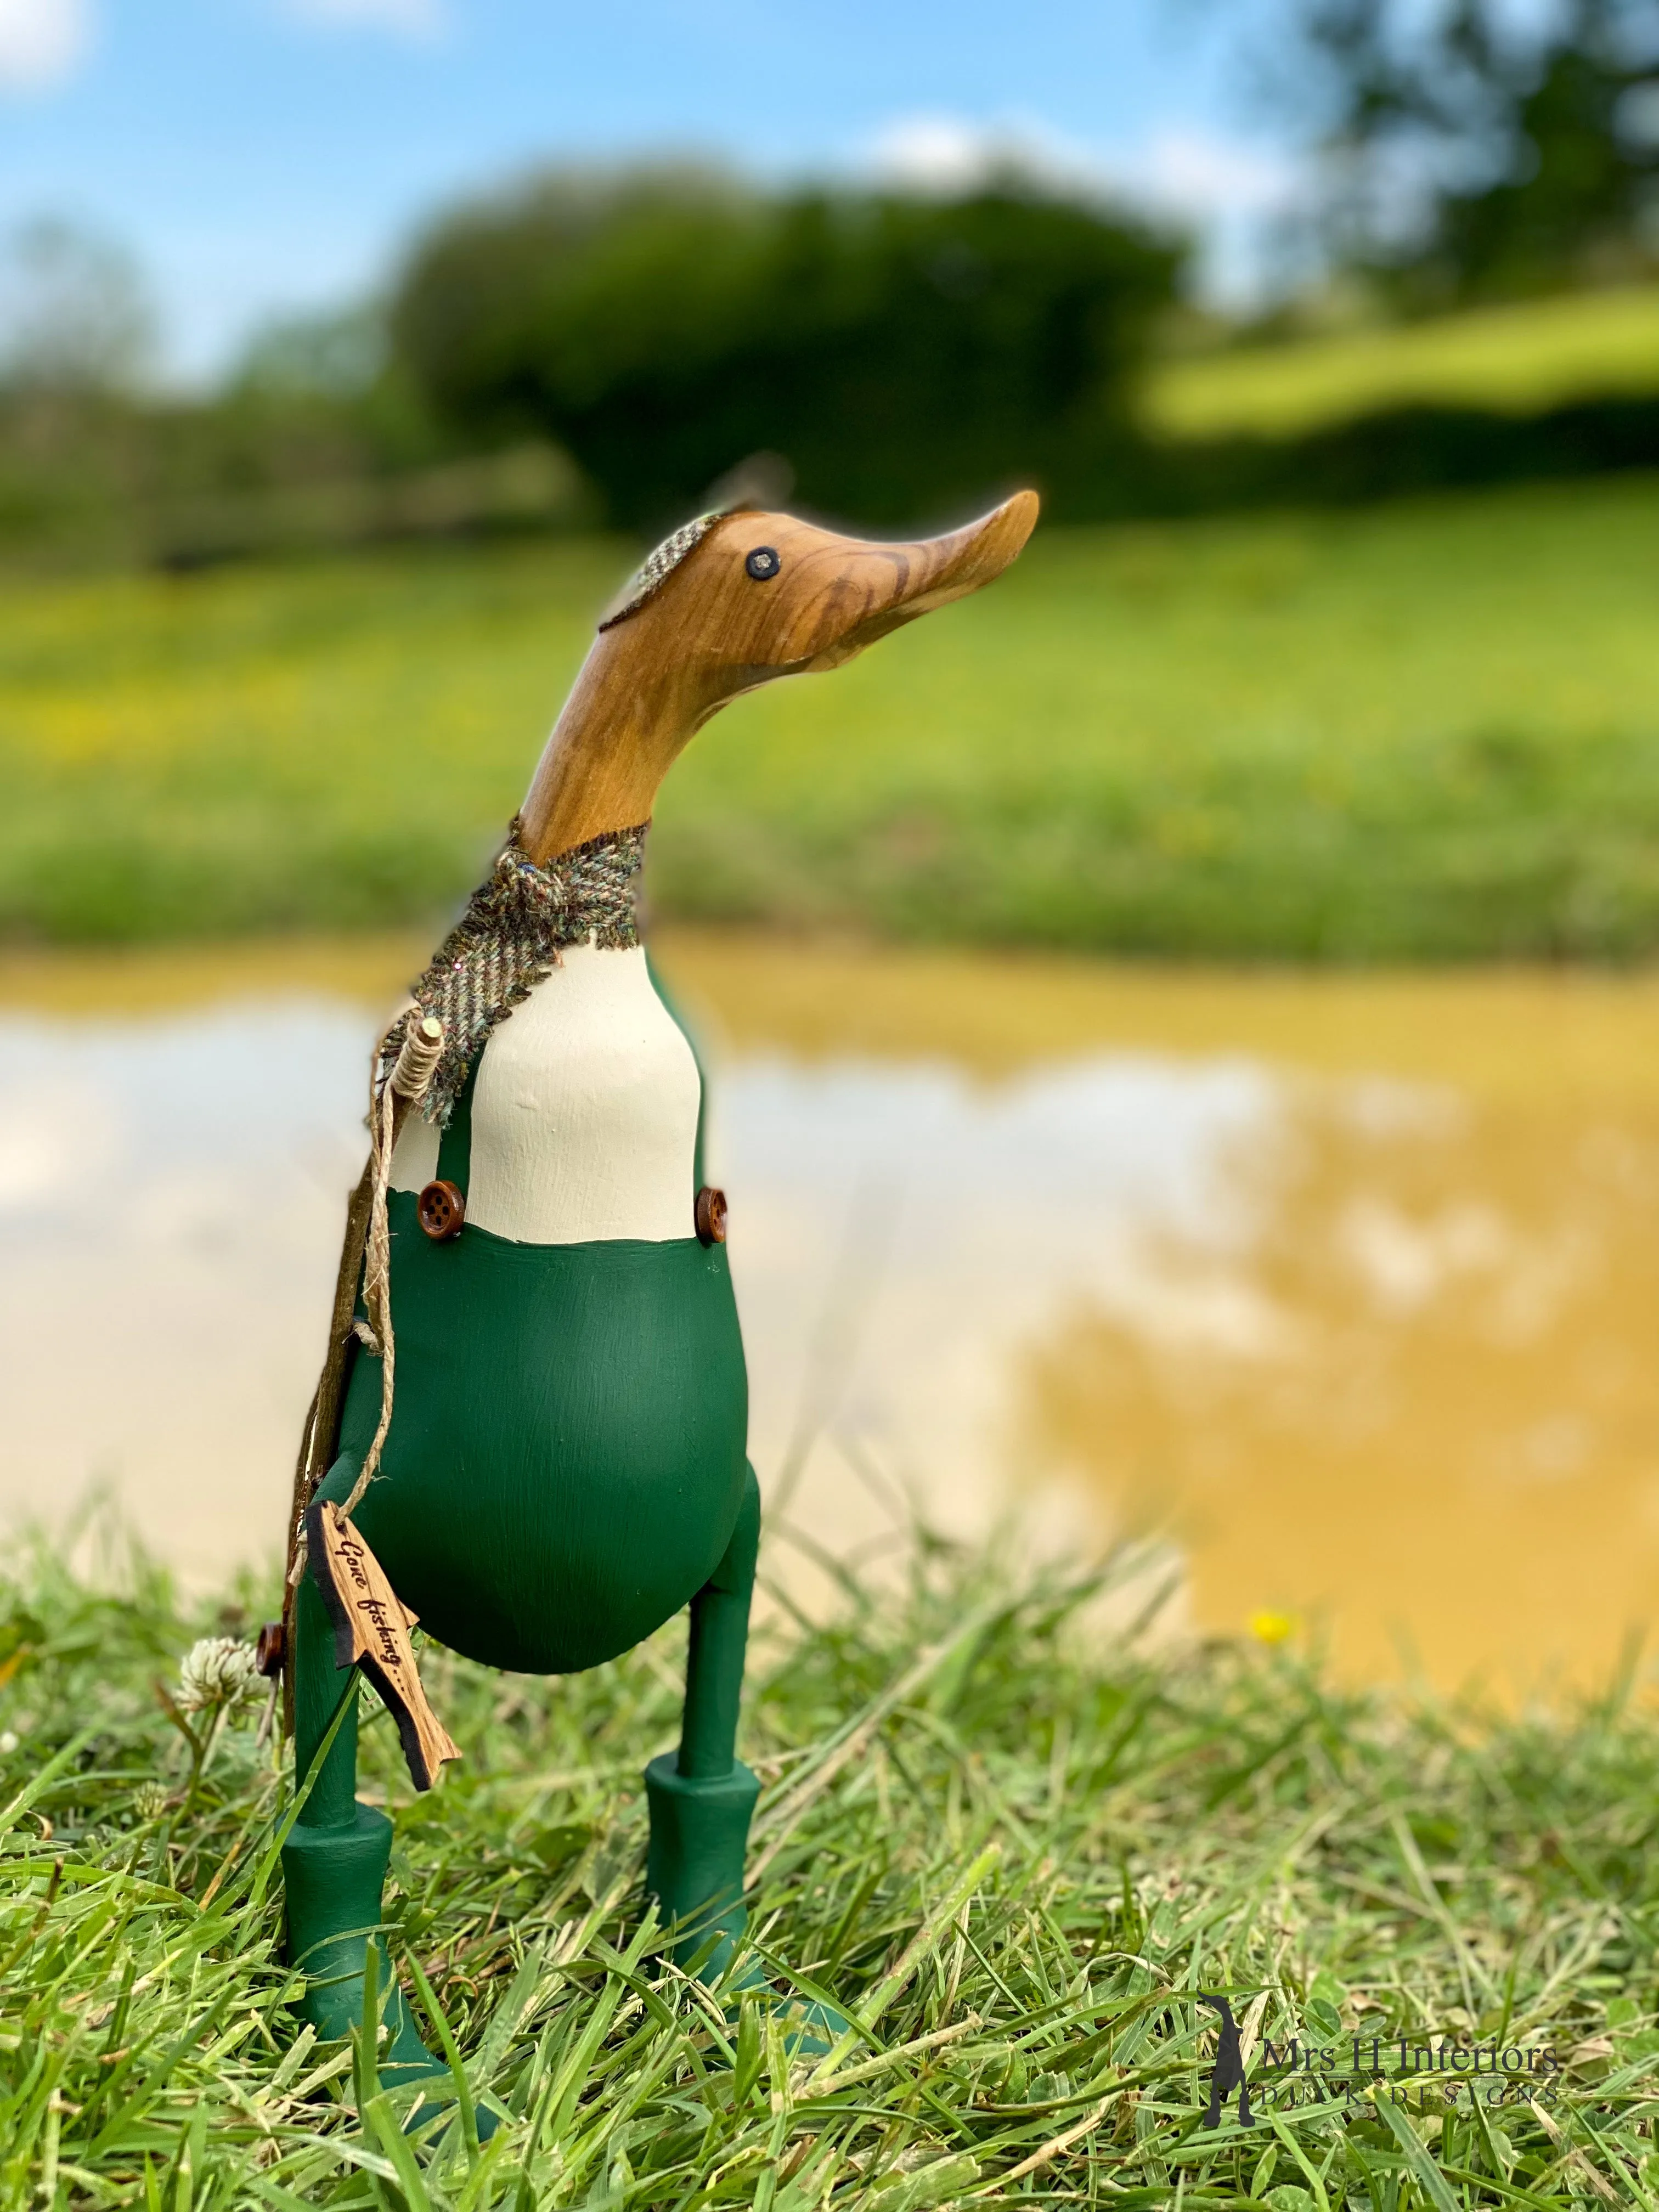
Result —
<instances>
[{"instance_id":1,"label":"dark blurred tree in the top right corner against the sky","mask_svg":"<svg viewBox=\"0 0 1659 2212\"><path fill-rule=\"evenodd\" d=\"M1659 0L1296 0L1336 259L1407 307L1659 254Z\"/></svg>"}]
</instances>

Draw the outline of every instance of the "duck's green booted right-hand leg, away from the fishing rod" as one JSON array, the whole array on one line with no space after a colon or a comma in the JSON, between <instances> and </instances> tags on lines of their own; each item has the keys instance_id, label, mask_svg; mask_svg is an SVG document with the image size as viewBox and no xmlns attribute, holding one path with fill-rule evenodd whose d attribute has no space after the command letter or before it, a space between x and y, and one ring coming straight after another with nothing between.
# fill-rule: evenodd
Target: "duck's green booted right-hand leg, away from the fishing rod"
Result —
<instances>
[{"instance_id":1,"label":"duck's green booted right-hand leg, away from the fishing rod","mask_svg":"<svg viewBox=\"0 0 1659 2212\"><path fill-rule=\"evenodd\" d=\"M748 1922L743 1851L761 1783L737 1756L737 1710L759 1544L761 1491L750 1469L726 1557L692 1599L679 1752L664 1752L646 1767L646 1889L677 1927L677 1962L690 1966L701 1955L699 1973L710 1982L728 1966Z\"/></svg>"}]
</instances>

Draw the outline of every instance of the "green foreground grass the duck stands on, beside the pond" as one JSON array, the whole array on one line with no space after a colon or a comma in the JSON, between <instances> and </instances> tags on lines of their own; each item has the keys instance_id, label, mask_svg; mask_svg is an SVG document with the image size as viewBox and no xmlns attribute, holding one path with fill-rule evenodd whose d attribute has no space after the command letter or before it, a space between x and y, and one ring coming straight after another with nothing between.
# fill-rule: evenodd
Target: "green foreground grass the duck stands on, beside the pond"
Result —
<instances>
[{"instance_id":1,"label":"green foreground grass the duck stands on, beside the pond","mask_svg":"<svg viewBox=\"0 0 1659 2212\"><path fill-rule=\"evenodd\" d=\"M367 2044L294 2039L281 1756L252 1705L197 1717L190 1743L155 1694L257 1595L181 1606L144 1566L111 1595L51 1551L13 1557L4 2208L1659 2194L1659 1730L1630 1681L1553 1719L1413 1708L1336 1692L1285 1644L1086 1635L1086 1584L1015 1588L922 1544L907 1586L849 1584L836 1619L774 1632L752 1670L757 1940L781 1986L827 1984L860 2024L810 2062L639 1929L637 1774L672 1741L675 1637L560 1683L429 1648L465 1765L411 1803L380 1719L365 1774L398 1825L394 1958L469 2097L507 2115L478 2152L453 2104L405 2135L407 2093L378 2088ZM1203 2126L1199 1989L1243 2022L1248 2128ZM1274 2081L1263 2037L1283 2059L1287 2035L1332 2070ZM1371 2037L1389 2070L1400 2035L1526 2053L1531 2095L1447 2090L1444 2059L1378 2101Z\"/></svg>"}]
</instances>

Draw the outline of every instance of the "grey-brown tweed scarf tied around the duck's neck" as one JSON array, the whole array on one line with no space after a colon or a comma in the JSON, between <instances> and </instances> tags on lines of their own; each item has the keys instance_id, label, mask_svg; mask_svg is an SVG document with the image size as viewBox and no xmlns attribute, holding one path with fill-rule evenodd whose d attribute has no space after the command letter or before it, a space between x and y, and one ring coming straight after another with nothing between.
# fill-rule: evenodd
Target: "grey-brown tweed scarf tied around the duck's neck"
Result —
<instances>
[{"instance_id":1,"label":"grey-brown tweed scarf tied around the duck's neck","mask_svg":"<svg viewBox=\"0 0 1659 2212\"><path fill-rule=\"evenodd\" d=\"M409 1018L436 1013L445 1048L420 1110L442 1128L484 1037L560 967L566 945L637 945L635 876L648 827L613 830L538 867L513 823L495 867L411 984L414 1006L380 1040L378 1084L396 1064Z\"/></svg>"}]
</instances>

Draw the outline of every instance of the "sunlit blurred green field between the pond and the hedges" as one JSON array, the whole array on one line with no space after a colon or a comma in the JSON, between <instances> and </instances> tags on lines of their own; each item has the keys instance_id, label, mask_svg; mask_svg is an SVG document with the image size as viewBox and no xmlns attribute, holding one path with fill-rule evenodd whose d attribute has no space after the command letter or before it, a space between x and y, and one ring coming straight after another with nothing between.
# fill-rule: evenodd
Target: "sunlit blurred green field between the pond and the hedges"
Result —
<instances>
[{"instance_id":1,"label":"sunlit blurred green field between the pond and the hedges","mask_svg":"<svg viewBox=\"0 0 1659 2212\"><path fill-rule=\"evenodd\" d=\"M0 931L438 914L630 560L7 584ZM1659 482L1040 531L721 714L657 814L703 920L1219 958L1659 945Z\"/></svg>"}]
</instances>

